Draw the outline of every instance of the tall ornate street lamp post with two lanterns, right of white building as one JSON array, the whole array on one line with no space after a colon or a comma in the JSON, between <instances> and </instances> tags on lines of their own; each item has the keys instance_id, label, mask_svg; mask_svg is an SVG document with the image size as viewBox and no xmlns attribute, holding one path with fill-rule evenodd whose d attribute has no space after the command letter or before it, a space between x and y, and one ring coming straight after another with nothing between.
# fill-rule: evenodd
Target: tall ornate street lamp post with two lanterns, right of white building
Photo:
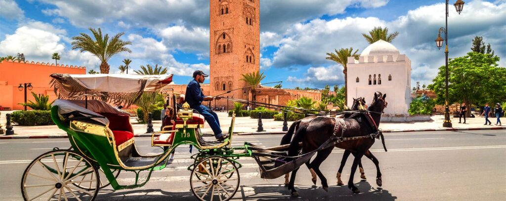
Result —
<instances>
[{"instance_id":1,"label":"tall ornate street lamp post with two lanterns, right of white building","mask_svg":"<svg viewBox=\"0 0 506 201\"><path fill-rule=\"evenodd\" d=\"M446 0L446 26L439 28L438 37L436 38L436 45L439 49L443 46L443 41L445 41L445 101L444 101L444 122L443 127L451 127L450 120L450 109L448 106L448 1ZM460 15L462 9L464 8L464 2L462 0L457 0L455 4L455 10ZM441 32L444 32L444 39L441 37Z\"/></svg>"}]
</instances>

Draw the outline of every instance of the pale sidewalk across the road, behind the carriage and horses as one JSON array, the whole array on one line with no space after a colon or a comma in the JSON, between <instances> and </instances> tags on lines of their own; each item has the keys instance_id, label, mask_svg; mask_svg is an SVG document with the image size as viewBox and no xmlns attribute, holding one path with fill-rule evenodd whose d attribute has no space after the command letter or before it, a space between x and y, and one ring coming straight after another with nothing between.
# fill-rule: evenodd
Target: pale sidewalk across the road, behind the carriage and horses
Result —
<instances>
[{"instance_id":1,"label":"pale sidewalk across the road, behind the carriage and horses","mask_svg":"<svg viewBox=\"0 0 506 201\"><path fill-rule=\"evenodd\" d=\"M7 111L11 112L11 111ZM0 123L2 123L2 127L5 129L5 111L2 112L2 117L0 118ZM221 127L223 132L227 132L230 127L231 118L227 116L227 113L219 112L218 117L220 119ZM440 130L499 130L506 129L506 126L492 126L483 125L485 122L485 118L481 116L477 116L476 118L468 118L467 124L459 124L458 118L451 118L453 128L444 128L443 120L444 116L437 115L433 116L431 122L415 122L415 123L389 123L382 122L379 125L379 128L383 130L383 132L409 132L409 131L440 131ZM502 121L506 121L506 119L501 118ZM490 118L492 123L495 123L495 118ZM130 122L134 128L134 133L136 137L151 137L151 134L146 134L147 125L137 123L136 118L131 118ZM274 121L273 119L263 119L262 120L264 131L257 132L258 128L258 120L251 119L249 117L237 117L235 119L234 133L239 135L254 135L254 134L284 134L282 131L283 122L282 121ZM293 122L288 122L288 127ZM506 123L506 122L504 122ZM505 124L506 125L506 124ZM155 131L159 131L161 126L161 121L153 121L153 129ZM204 128L202 129L204 134L212 134L212 130L209 128L209 125L206 123ZM67 134L60 130L57 126L14 126L15 135L0 135L0 139L21 139L21 138L65 138Z\"/></svg>"}]
</instances>

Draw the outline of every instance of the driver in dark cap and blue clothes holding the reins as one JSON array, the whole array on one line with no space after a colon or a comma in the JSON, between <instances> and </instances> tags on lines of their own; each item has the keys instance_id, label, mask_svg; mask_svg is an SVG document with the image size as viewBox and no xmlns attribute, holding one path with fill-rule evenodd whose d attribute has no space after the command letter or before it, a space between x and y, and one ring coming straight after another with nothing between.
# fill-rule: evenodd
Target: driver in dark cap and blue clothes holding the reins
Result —
<instances>
[{"instance_id":1,"label":"driver in dark cap and blue clothes holding the reins","mask_svg":"<svg viewBox=\"0 0 506 201\"><path fill-rule=\"evenodd\" d=\"M216 139L218 141L223 141L228 137L227 133L223 133L220 128L220 121L218 120L218 115L210 111L207 107L202 106L202 101L204 100L213 100L220 99L221 97L213 97L213 96L204 96L202 93L202 89L200 88L200 83L203 83L205 77L208 75L204 74L204 72L200 70L196 70L193 72L193 80L188 83L186 87L185 101L190 105L191 109L196 110L198 113L204 116L205 121L209 124L211 129L215 134Z\"/></svg>"}]
</instances>

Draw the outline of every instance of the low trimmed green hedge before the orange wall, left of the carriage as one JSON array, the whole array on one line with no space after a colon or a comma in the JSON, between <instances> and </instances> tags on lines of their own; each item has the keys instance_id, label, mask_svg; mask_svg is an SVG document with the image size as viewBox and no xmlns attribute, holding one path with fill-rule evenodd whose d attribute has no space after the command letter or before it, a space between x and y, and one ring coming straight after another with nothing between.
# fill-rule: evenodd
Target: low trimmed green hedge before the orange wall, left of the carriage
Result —
<instances>
[{"instance_id":1,"label":"low trimmed green hedge before the orange wall, left of the carriage","mask_svg":"<svg viewBox=\"0 0 506 201\"><path fill-rule=\"evenodd\" d=\"M11 120L21 126L44 126L55 124L51 119L51 111L48 110L15 111L12 113Z\"/></svg>"}]
</instances>

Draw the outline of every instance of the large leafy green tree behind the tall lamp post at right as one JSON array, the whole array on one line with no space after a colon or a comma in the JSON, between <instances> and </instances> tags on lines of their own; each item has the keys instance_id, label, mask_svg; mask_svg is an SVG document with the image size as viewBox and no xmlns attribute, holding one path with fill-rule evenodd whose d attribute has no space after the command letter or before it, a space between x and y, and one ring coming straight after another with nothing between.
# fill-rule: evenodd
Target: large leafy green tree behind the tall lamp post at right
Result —
<instances>
[{"instance_id":1,"label":"large leafy green tree behind the tall lamp post at right","mask_svg":"<svg viewBox=\"0 0 506 201\"><path fill-rule=\"evenodd\" d=\"M465 102L481 106L506 99L506 68L498 67L499 57L469 52L448 63L448 103ZM439 67L429 89L437 94L436 103L444 104L445 66ZM471 114L468 110L468 116Z\"/></svg>"}]
</instances>

